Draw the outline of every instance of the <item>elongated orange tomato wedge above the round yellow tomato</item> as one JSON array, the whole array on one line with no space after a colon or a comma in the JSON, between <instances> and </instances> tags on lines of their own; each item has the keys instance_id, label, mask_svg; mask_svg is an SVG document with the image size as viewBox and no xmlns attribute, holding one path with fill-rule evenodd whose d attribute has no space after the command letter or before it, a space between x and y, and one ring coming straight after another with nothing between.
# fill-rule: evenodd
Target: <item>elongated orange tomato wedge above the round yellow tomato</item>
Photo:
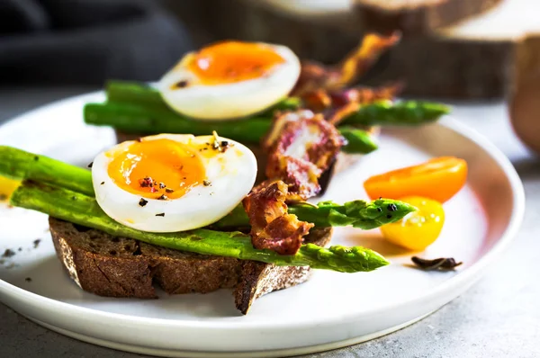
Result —
<instances>
[{"instance_id":1,"label":"elongated orange tomato wedge above the round yellow tomato","mask_svg":"<svg viewBox=\"0 0 540 358\"><path fill-rule=\"evenodd\" d=\"M467 180L467 162L457 157L437 157L418 166L407 166L364 183L365 192L374 200L379 197L401 200L418 195L439 202L448 201Z\"/></svg>"}]
</instances>

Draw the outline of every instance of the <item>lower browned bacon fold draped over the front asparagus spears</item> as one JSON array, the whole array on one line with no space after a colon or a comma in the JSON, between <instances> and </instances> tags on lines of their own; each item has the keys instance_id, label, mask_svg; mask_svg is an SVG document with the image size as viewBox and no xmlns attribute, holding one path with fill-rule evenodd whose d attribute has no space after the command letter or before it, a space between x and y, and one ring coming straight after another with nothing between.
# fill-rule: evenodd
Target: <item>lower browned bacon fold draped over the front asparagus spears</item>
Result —
<instances>
[{"instance_id":1,"label":"lower browned bacon fold draped over the front asparagus spears","mask_svg":"<svg viewBox=\"0 0 540 358\"><path fill-rule=\"evenodd\" d=\"M251 242L257 249L270 249L280 255L294 255L313 224L287 213L288 186L281 180L266 181L242 201L251 224Z\"/></svg>"}]
</instances>

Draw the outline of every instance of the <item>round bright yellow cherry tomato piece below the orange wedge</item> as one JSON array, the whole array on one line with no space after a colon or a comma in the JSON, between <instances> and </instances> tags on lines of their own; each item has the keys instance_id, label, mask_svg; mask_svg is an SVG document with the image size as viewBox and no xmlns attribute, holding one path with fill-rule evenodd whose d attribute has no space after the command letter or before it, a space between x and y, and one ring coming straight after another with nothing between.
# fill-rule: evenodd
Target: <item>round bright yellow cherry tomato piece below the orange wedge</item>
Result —
<instances>
[{"instance_id":1,"label":"round bright yellow cherry tomato piece below the orange wedge","mask_svg":"<svg viewBox=\"0 0 540 358\"><path fill-rule=\"evenodd\" d=\"M411 212L400 221L381 227L384 238L392 244L421 251L433 244L445 224L443 205L428 198L408 196L401 201L416 206L419 210Z\"/></svg>"}]
</instances>

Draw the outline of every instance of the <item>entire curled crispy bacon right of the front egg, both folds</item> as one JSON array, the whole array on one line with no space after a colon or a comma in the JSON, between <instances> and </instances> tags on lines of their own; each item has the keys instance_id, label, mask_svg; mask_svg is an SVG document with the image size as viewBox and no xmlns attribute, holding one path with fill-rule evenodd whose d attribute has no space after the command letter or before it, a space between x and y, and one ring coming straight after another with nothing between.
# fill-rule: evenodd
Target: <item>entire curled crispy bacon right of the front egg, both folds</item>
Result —
<instances>
[{"instance_id":1,"label":"entire curled crispy bacon right of the front egg, both folds","mask_svg":"<svg viewBox=\"0 0 540 358\"><path fill-rule=\"evenodd\" d=\"M268 152L266 175L242 201L256 248L294 255L313 224L287 212L287 201L320 192L319 177L345 144L338 130L322 114L309 110L285 112L262 141Z\"/></svg>"}]
</instances>

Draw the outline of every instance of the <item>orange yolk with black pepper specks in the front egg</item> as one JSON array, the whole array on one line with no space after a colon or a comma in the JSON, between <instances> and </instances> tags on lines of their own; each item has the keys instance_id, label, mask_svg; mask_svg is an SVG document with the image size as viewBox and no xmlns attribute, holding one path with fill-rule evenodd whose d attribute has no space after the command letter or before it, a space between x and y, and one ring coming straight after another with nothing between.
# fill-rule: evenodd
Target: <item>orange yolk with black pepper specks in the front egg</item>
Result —
<instances>
[{"instance_id":1,"label":"orange yolk with black pepper specks in the front egg","mask_svg":"<svg viewBox=\"0 0 540 358\"><path fill-rule=\"evenodd\" d=\"M196 149L171 139L142 140L114 153L107 168L121 189L148 199L175 199L204 182Z\"/></svg>"}]
</instances>

